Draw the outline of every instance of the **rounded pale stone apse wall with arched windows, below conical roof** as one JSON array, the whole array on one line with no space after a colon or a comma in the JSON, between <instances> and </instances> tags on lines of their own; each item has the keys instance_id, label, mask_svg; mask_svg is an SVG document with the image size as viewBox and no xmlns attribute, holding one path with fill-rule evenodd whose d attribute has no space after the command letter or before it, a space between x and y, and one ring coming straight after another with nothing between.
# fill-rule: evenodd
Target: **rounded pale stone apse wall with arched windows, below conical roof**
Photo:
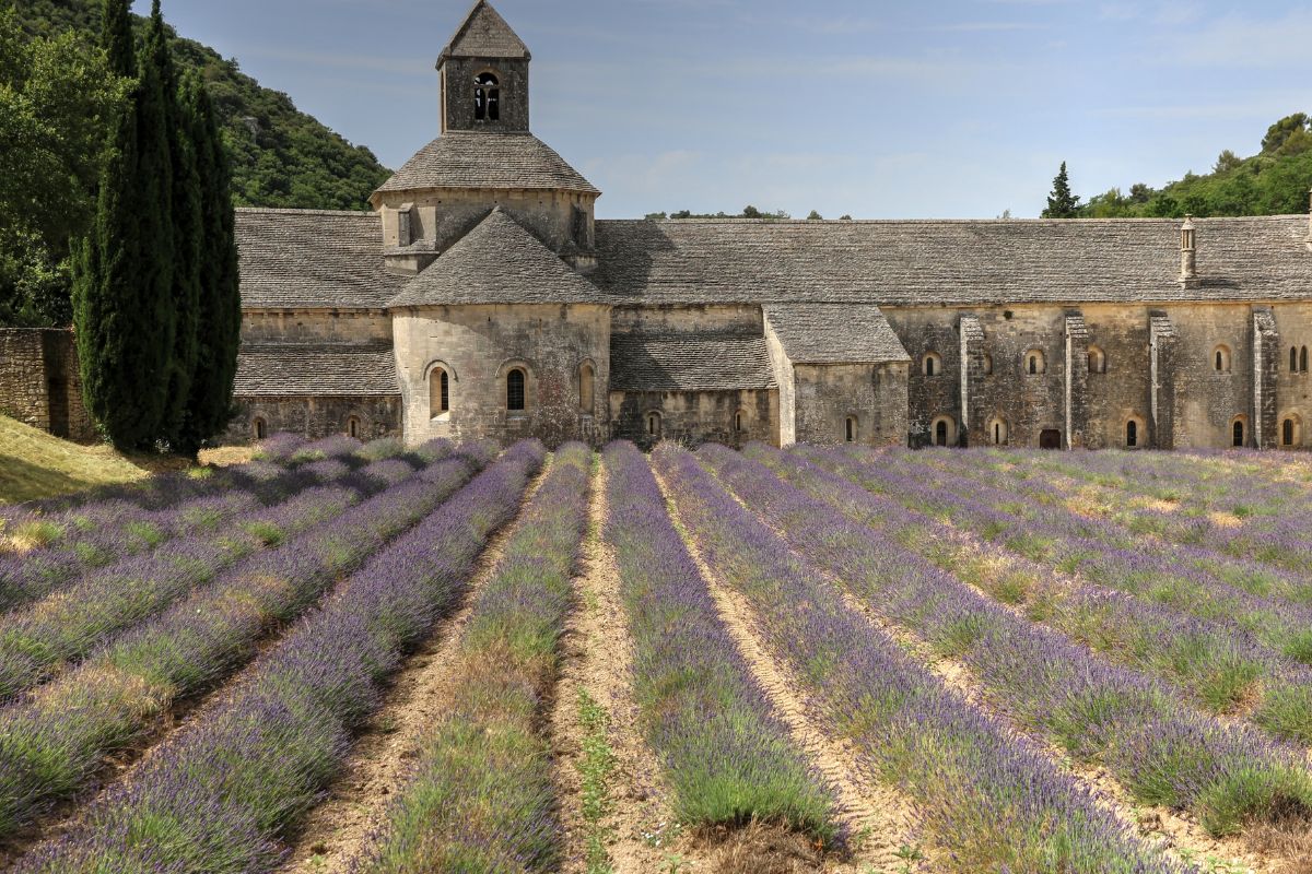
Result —
<instances>
[{"instance_id":1,"label":"rounded pale stone apse wall with arched windows, below conical roof","mask_svg":"<svg viewBox=\"0 0 1312 874\"><path fill-rule=\"evenodd\" d=\"M610 312L601 305L471 305L398 312L396 360L405 438L458 440L526 436L548 444L610 435ZM580 368L593 367L590 409L581 409ZM429 376L445 368L450 410L429 405ZM506 376L527 375L525 410L506 409Z\"/></svg>"}]
</instances>

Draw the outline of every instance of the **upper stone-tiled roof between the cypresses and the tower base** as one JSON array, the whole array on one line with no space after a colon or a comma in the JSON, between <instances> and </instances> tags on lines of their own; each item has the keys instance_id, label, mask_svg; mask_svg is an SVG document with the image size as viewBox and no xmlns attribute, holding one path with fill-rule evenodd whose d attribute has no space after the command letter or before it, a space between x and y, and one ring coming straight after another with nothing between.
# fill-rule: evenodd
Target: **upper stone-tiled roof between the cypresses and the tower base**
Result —
<instances>
[{"instance_id":1,"label":"upper stone-tiled roof between the cypresses and the tower base","mask_svg":"<svg viewBox=\"0 0 1312 874\"><path fill-rule=\"evenodd\" d=\"M373 212L241 208L236 237L247 309L382 309L404 283Z\"/></svg>"}]
</instances>

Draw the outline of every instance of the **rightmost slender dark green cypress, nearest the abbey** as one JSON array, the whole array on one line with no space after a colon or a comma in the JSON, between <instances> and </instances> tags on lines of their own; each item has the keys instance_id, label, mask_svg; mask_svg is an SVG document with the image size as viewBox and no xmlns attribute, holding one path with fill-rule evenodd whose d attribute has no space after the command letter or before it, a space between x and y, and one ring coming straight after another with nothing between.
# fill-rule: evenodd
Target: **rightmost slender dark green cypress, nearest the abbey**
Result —
<instances>
[{"instance_id":1,"label":"rightmost slender dark green cypress, nearest the abbey","mask_svg":"<svg viewBox=\"0 0 1312 874\"><path fill-rule=\"evenodd\" d=\"M241 292L237 280L236 216L232 210L232 168L223 145L219 119L205 83L195 72L182 85L182 115L195 143L201 180L203 244L201 325L197 370L178 449L194 455L201 444L232 418L232 381L241 342Z\"/></svg>"}]
</instances>

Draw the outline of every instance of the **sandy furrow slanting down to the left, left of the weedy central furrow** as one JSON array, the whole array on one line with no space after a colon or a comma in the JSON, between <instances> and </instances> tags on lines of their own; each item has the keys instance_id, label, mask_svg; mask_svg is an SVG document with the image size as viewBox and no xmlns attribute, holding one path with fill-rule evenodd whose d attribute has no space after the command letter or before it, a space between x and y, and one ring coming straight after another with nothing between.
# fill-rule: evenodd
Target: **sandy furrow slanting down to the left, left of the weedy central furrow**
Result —
<instances>
[{"instance_id":1,"label":"sandy furrow slanting down to the left, left of the weedy central furrow","mask_svg":"<svg viewBox=\"0 0 1312 874\"><path fill-rule=\"evenodd\" d=\"M548 456L520 503L514 522L495 533L479 557L461 608L407 659L396 674L383 706L356 739L350 759L328 789L327 801L306 818L291 854L279 871L325 874L342 871L382 823L391 793L404 785L411 760L433 721L447 709L455 660L464 626L478 595L492 578L505 544L514 536L523 510L551 470Z\"/></svg>"}]
</instances>

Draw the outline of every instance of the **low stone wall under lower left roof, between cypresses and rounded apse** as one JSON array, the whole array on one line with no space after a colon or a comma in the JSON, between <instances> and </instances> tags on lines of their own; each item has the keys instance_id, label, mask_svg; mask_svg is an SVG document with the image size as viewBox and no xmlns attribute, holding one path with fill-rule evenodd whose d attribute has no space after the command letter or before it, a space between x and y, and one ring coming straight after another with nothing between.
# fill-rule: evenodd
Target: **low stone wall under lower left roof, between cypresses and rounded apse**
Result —
<instances>
[{"instance_id":1,"label":"low stone wall under lower left roof, between cypresses and rounded apse","mask_svg":"<svg viewBox=\"0 0 1312 874\"><path fill-rule=\"evenodd\" d=\"M239 397L235 405L237 414L223 434L224 444L253 443L257 419L266 435L287 431L318 439L349 434L352 418L361 440L403 435L399 397Z\"/></svg>"}]
</instances>

